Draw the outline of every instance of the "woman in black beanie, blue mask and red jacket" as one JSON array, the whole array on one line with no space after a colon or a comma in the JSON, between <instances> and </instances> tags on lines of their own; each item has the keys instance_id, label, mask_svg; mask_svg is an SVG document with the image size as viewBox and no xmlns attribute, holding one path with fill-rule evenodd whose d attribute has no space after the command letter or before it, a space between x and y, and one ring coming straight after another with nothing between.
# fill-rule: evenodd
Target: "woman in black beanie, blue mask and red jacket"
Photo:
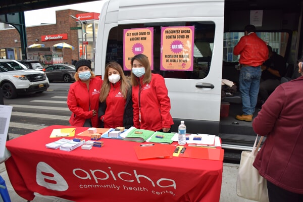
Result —
<instances>
[{"instance_id":1,"label":"woman in black beanie, blue mask and red jacket","mask_svg":"<svg viewBox=\"0 0 303 202\"><path fill-rule=\"evenodd\" d=\"M71 126L98 127L97 112L102 79L95 77L91 71L90 61L79 60L76 74L67 95L67 106L72 112L69 120Z\"/></svg>"}]
</instances>

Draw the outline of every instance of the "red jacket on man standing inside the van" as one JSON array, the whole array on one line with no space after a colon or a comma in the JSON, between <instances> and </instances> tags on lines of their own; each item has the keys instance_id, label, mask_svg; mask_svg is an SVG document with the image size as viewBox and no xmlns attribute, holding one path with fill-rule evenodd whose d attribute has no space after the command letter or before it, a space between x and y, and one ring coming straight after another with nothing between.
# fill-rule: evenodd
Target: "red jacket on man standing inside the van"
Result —
<instances>
[{"instance_id":1,"label":"red jacket on man standing inside the van","mask_svg":"<svg viewBox=\"0 0 303 202\"><path fill-rule=\"evenodd\" d=\"M268 47L255 32L251 32L240 38L234 47L234 55L240 55L240 64L257 67L268 59Z\"/></svg>"}]
</instances>

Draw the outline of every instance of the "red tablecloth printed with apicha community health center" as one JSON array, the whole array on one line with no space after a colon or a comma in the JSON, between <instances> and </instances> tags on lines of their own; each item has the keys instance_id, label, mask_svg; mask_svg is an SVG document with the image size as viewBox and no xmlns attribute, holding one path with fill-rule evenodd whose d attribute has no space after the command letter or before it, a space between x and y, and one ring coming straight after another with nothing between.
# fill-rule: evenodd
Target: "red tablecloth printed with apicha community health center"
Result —
<instances>
[{"instance_id":1,"label":"red tablecloth printed with apicha community health center","mask_svg":"<svg viewBox=\"0 0 303 202\"><path fill-rule=\"evenodd\" d=\"M220 199L222 161L138 160L134 146L140 143L118 139L103 138L104 147L90 150L45 147L59 139L49 138L53 129L68 127L49 126L7 142L12 153L5 162L7 172L21 197L32 200L37 192L83 202ZM76 128L76 134L87 129Z\"/></svg>"}]
</instances>

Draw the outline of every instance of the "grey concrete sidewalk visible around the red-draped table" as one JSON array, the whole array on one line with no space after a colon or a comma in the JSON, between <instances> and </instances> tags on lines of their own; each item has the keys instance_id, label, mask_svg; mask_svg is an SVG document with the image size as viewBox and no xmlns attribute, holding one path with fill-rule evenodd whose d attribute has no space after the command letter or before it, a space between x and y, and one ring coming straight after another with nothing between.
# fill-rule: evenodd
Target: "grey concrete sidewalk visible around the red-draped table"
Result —
<instances>
[{"instance_id":1,"label":"grey concrete sidewalk visible around the red-draped table","mask_svg":"<svg viewBox=\"0 0 303 202\"><path fill-rule=\"evenodd\" d=\"M238 164L223 164L223 180L221 188L220 202L252 202L252 200L246 200L244 198L238 197L236 194L236 180L238 174ZM0 164L0 175L6 182L7 188L12 202L26 202L27 200L21 198L13 189L12 184L9 180L8 174L6 172L5 164ZM33 202L70 202L70 200L65 200L55 196L42 196L36 194ZM211 202L211 201L210 201Z\"/></svg>"}]
</instances>

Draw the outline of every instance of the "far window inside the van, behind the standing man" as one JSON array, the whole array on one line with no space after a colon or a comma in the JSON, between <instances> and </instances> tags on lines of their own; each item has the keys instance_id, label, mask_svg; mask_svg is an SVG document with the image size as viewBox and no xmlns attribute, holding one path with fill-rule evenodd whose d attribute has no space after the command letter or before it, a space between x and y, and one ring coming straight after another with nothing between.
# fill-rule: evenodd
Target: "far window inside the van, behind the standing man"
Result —
<instances>
[{"instance_id":1,"label":"far window inside the van, behind the standing man","mask_svg":"<svg viewBox=\"0 0 303 202\"><path fill-rule=\"evenodd\" d=\"M286 57L286 49L288 47L289 33L288 32L256 32L266 44L273 48L273 52ZM233 48L238 43L240 38L244 36L244 32L225 32L223 38L223 61L239 62L240 56L233 55Z\"/></svg>"}]
</instances>

